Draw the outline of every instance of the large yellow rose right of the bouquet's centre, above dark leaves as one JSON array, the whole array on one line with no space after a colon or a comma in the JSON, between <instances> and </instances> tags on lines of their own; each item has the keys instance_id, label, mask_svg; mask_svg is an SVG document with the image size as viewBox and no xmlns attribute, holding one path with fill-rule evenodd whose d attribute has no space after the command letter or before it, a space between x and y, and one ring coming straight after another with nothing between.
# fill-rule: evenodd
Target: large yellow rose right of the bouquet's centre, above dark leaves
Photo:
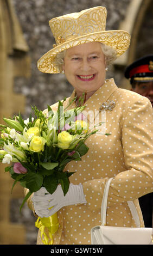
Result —
<instances>
[{"instance_id":1,"label":"large yellow rose right of the bouquet's centre, above dark leaves","mask_svg":"<svg viewBox=\"0 0 153 256\"><path fill-rule=\"evenodd\" d=\"M73 135L69 134L67 131L62 131L58 135L58 146L61 149L68 149L69 144L73 141Z\"/></svg>"}]
</instances>

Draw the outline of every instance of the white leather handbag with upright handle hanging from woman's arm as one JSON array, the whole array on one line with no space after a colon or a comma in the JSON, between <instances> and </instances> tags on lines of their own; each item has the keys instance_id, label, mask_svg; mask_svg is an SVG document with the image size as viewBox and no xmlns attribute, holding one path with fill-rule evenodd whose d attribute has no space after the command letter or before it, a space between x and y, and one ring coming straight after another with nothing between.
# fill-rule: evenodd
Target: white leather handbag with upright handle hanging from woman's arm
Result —
<instances>
[{"instance_id":1,"label":"white leather handbag with upright handle hanging from woman's arm","mask_svg":"<svg viewBox=\"0 0 153 256\"><path fill-rule=\"evenodd\" d=\"M104 196L101 203L101 225L91 229L92 245L153 245L153 229L140 228L139 217L135 204L128 201L128 205L137 228L106 226L107 197L113 178L106 182Z\"/></svg>"}]
</instances>

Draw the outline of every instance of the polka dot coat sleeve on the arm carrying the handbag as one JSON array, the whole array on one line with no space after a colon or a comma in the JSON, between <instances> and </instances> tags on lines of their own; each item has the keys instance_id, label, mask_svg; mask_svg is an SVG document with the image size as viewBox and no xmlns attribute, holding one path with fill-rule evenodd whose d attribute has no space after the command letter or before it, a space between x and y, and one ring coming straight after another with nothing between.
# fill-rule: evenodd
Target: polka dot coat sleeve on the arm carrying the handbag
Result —
<instances>
[{"instance_id":1,"label":"polka dot coat sleeve on the arm carrying the handbag","mask_svg":"<svg viewBox=\"0 0 153 256\"><path fill-rule=\"evenodd\" d=\"M121 136L126 170L112 180L108 198L110 203L135 200L153 191L152 106L147 98L143 97L143 100L135 101L127 108L122 119ZM107 179L83 183L91 210L101 207Z\"/></svg>"}]
</instances>

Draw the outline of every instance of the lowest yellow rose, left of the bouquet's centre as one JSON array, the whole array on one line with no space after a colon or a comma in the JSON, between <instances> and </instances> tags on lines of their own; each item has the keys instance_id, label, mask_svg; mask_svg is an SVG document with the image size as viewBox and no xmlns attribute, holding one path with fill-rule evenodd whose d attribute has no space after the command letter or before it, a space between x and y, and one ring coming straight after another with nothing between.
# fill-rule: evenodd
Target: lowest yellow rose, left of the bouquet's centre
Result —
<instances>
[{"instance_id":1,"label":"lowest yellow rose, left of the bouquet's centre","mask_svg":"<svg viewBox=\"0 0 153 256\"><path fill-rule=\"evenodd\" d=\"M44 150L44 144L46 143L46 140L43 137L34 136L31 139L30 147L29 149L34 152L40 152Z\"/></svg>"}]
</instances>

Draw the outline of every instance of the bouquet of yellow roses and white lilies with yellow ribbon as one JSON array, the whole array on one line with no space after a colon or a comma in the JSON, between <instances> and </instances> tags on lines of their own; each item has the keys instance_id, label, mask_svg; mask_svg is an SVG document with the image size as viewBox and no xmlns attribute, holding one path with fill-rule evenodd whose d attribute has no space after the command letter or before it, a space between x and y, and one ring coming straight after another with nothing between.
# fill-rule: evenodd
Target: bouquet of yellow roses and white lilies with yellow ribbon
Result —
<instances>
[{"instance_id":1,"label":"bouquet of yellow roses and white lilies with yellow ribbon","mask_svg":"<svg viewBox=\"0 0 153 256\"><path fill-rule=\"evenodd\" d=\"M31 194L40 190L42 186L52 194L61 184L65 195L69 188L69 176L73 174L63 171L66 164L72 160L81 160L81 156L88 151L86 139L97 132L97 130L89 132L88 124L83 120L84 106L68 110L67 108L72 104L69 102L64 109L65 100L59 101L56 112L48 106L46 115L37 107L32 107L34 117L31 113L27 120L23 120L19 114L14 118L3 118L6 125L0 125L0 161L12 163L5 167L5 172L9 172L14 179L12 189L17 182L20 182L21 186L29 190L21 208ZM44 238L45 223L48 223L48 218L37 220L37 227L41 228ZM51 228L49 224L47 225ZM56 229L53 232L52 227L49 231L52 239ZM44 243L48 243L47 237Z\"/></svg>"}]
</instances>

